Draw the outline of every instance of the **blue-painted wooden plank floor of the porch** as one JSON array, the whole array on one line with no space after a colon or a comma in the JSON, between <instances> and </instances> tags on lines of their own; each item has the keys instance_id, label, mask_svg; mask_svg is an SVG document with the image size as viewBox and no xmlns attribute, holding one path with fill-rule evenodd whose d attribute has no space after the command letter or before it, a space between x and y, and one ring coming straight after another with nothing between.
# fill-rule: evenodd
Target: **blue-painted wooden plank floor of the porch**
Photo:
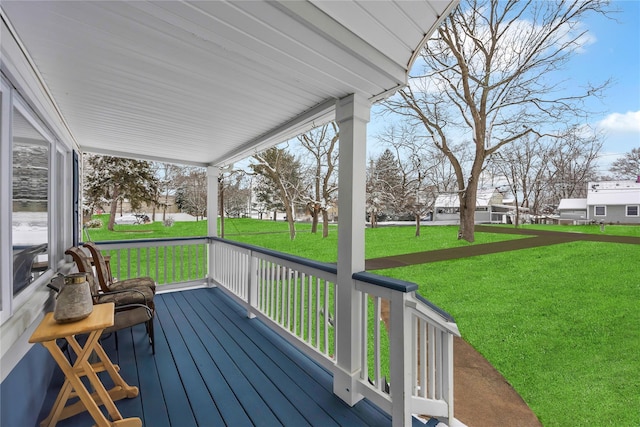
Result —
<instances>
[{"instance_id":1,"label":"blue-painted wooden plank floor of the porch","mask_svg":"<svg viewBox=\"0 0 640 427\"><path fill-rule=\"evenodd\" d=\"M124 417L140 417L149 427L391 425L368 401L350 408L335 397L327 371L248 319L219 289L156 300L155 356L143 326L118 332L118 351L113 336L103 340L125 381L140 389L138 397L116 403ZM40 420L61 385L57 369ZM84 413L58 425L92 421Z\"/></svg>"}]
</instances>

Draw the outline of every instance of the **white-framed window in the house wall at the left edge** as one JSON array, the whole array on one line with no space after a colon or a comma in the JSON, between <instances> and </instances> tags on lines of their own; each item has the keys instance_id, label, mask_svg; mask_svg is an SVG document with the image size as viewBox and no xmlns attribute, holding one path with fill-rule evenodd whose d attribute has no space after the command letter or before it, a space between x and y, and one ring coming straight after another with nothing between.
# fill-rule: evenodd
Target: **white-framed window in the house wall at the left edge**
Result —
<instances>
[{"instance_id":1,"label":"white-framed window in the house wall at the left edge","mask_svg":"<svg viewBox=\"0 0 640 427\"><path fill-rule=\"evenodd\" d=\"M72 241L72 150L55 139L4 74L0 141L0 324L5 324L22 307L33 309L29 303L42 299L34 299L36 290L65 262L64 249Z\"/></svg>"}]
</instances>

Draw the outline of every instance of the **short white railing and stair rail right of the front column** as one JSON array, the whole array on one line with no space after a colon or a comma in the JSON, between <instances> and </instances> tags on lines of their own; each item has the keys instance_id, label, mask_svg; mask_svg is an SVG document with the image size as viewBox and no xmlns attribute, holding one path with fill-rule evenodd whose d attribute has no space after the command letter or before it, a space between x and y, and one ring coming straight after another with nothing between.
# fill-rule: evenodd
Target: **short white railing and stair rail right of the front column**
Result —
<instances>
[{"instance_id":1,"label":"short white railing and stair rail right of the front column","mask_svg":"<svg viewBox=\"0 0 640 427\"><path fill-rule=\"evenodd\" d=\"M453 412L453 338L460 336L453 318L416 294L415 283L366 272L354 279L364 295L360 393L394 425L411 425L412 414L461 425Z\"/></svg>"}]
</instances>

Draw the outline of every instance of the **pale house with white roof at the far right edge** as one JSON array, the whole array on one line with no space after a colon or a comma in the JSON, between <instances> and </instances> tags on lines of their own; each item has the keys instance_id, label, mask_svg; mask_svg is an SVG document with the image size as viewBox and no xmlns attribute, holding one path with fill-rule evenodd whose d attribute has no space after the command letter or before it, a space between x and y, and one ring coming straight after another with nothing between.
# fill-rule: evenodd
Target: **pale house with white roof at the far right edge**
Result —
<instances>
[{"instance_id":1,"label":"pale house with white roof at the far right edge","mask_svg":"<svg viewBox=\"0 0 640 427\"><path fill-rule=\"evenodd\" d=\"M560 220L640 224L640 179L590 182L586 199L562 199Z\"/></svg>"}]
</instances>

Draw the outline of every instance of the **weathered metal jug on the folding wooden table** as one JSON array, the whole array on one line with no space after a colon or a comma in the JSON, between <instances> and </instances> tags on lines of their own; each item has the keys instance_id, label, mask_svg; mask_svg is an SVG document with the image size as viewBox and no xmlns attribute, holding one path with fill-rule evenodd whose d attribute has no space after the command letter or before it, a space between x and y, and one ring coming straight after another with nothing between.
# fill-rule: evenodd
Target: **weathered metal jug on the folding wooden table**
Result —
<instances>
[{"instance_id":1,"label":"weathered metal jug on the folding wooden table","mask_svg":"<svg viewBox=\"0 0 640 427\"><path fill-rule=\"evenodd\" d=\"M53 311L55 321L68 323L88 317L93 311L93 299L86 273L61 276L57 282L59 291Z\"/></svg>"}]
</instances>

